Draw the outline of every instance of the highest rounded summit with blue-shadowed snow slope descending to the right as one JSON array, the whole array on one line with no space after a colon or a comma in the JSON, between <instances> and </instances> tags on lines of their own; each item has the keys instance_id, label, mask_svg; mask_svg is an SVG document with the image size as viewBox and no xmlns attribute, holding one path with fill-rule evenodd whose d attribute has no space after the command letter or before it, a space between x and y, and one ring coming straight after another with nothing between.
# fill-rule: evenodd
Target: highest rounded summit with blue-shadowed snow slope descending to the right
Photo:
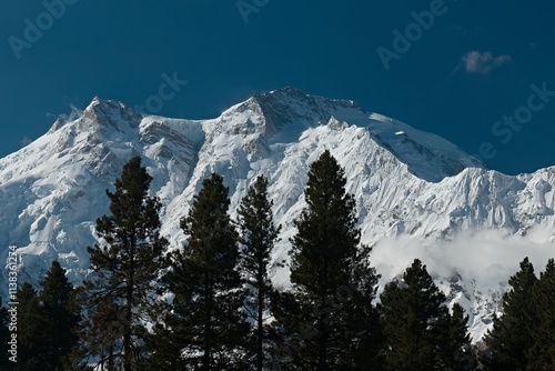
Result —
<instances>
[{"instance_id":1,"label":"highest rounded summit with blue-shadowed snow slope descending to the right","mask_svg":"<svg viewBox=\"0 0 555 371\"><path fill-rule=\"evenodd\" d=\"M373 141L405 163L411 173L426 181L438 182L468 167L483 168L443 138L369 112L352 100L311 96L292 87L255 93L213 120L208 131L218 134L258 133L266 140L265 144L262 143L266 146L296 142L307 129L327 127L340 130L351 126L366 130Z\"/></svg>"}]
</instances>

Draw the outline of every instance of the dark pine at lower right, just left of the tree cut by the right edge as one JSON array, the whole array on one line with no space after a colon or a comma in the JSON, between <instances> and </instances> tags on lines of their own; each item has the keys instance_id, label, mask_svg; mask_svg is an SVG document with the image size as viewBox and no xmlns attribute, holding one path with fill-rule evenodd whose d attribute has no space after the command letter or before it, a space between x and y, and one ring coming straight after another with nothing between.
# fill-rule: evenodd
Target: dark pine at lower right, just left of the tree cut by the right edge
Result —
<instances>
[{"instance_id":1,"label":"dark pine at lower right, just left of the tree cut by the right edge","mask_svg":"<svg viewBox=\"0 0 555 371\"><path fill-rule=\"evenodd\" d=\"M532 347L531 298L536 281L534 267L525 258L521 270L508 280L511 290L503 294L503 315L494 318L493 329L484 338L490 354L483 361L492 370L526 369L526 355Z\"/></svg>"}]
</instances>

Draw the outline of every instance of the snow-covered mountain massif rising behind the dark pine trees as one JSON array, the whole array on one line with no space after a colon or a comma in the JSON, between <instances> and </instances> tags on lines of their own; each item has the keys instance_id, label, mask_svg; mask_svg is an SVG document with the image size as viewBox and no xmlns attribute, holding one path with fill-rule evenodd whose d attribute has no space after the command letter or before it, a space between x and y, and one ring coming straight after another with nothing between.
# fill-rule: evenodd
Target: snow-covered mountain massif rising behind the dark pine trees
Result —
<instances>
[{"instance_id":1,"label":"snow-covered mountain massif rising behind the dark pine trees","mask_svg":"<svg viewBox=\"0 0 555 371\"><path fill-rule=\"evenodd\" d=\"M98 98L75 120L58 120L0 160L2 259L14 245L22 257L21 281L38 283L58 259L79 282L89 265L87 247L95 243L95 219L109 213L105 190L113 190L131 157L141 156L154 178L151 192L162 201L162 233L172 249L185 242L179 220L211 172L230 188L233 218L250 184L264 174L275 221L283 225L274 259L286 260L292 221L305 205L306 172L325 149L345 169L382 283L417 254L428 254L440 287L471 314L475 340L488 328L503 282L518 268L513 260L527 253L515 248L506 268L498 252L531 244L542 257L554 255L555 168L504 176L437 136L352 101L285 88L255 94L212 120L145 116ZM497 253L487 250L505 242ZM453 259L457 254L474 260ZM537 269L545 263L538 260ZM1 274L7 278L6 270ZM275 269L274 283L286 285L289 271Z\"/></svg>"}]
</instances>

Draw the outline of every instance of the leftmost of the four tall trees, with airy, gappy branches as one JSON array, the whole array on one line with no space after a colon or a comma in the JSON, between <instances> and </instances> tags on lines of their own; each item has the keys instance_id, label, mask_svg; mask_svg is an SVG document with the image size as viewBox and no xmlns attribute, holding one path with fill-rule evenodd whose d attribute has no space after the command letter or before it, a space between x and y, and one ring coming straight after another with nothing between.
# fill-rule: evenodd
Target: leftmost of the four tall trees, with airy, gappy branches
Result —
<instances>
[{"instance_id":1,"label":"leftmost of the four tall trees, with airy, gappy branches","mask_svg":"<svg viewBox=\"0 0 555 371\"><path fill-rule=\"evenodd\" d=\"M87 310L101 329L103 319L112 327L112 315L95 313L117 305L111 312L118 313L120 327L111 335L118 340L103 351L113 353L115 367L123 371L135 370L144 355L144 321L150 318L157 278L165 261L168 241L160 237L161 204L158 198L148 195L151 181L139 157L123 167L115 192L107 190L112 214L97 220L97 234L103 243L88 248L93 272L84 282Z\"/></svg>"}]
</instances>

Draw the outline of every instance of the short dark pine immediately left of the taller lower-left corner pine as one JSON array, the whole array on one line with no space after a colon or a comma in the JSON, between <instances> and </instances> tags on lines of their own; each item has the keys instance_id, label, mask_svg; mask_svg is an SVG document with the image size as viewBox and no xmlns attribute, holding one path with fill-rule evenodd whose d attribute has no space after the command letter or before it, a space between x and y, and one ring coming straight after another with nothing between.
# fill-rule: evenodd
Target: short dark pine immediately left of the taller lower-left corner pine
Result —
<instances>
[{"instance_id":1,"label":"short dark pine immediately left of the taller lower-left corner pine","mask_svg":"<svg viewBox=\"0 0 555 371\"><path fill-rule=\"evenodd\" d=\"M47 361L47 321L42 314L37 290L24 282L18 298L18 370L43 371Z\"/></svg>"}]
</instances>

